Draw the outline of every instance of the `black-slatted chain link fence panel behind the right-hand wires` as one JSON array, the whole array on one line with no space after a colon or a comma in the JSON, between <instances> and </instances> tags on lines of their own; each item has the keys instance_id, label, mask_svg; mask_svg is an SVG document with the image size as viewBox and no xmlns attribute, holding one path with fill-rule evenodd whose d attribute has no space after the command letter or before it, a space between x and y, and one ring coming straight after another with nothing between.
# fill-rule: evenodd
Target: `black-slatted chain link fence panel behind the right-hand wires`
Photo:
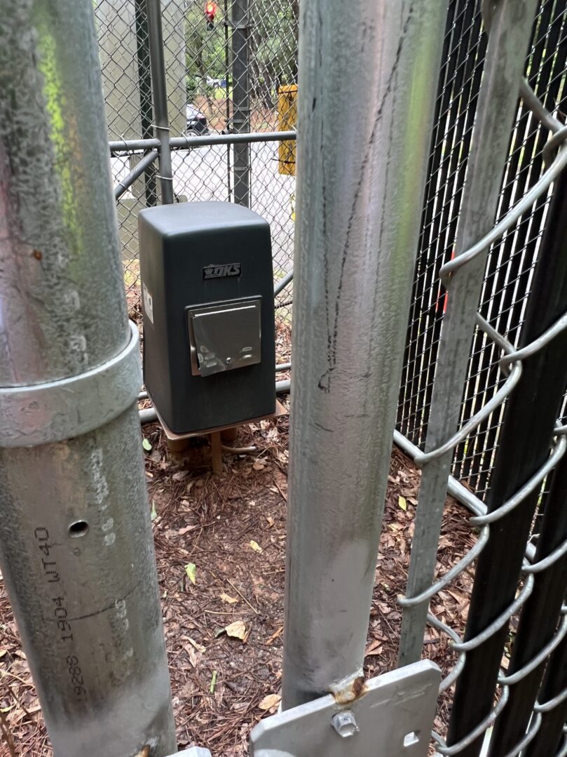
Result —
<instances>
[{"instance_id":1,"label":"black-slatted chain link fence panel behind the right-hand wires","mask_svg":"<svg viewBox=\"0 0 567 757\"><path fill-rule=\"evenodd\" d=\"M480 0L453 0L449 8L445 51L439 79L437 113L429 157L429 180L422 213L414 293L398 428L423 448L437 364L437 348L448 295L438 284L438 270L451 260L463 182L485 60L487 37L482 27ZM534 21L525 76L545 107L553 114L567 109L567 8L565 2L542 0ZM499 221L544 170L542 151L548 132L529 108L520 103L510 136L509 157L503 176ZM491 326L516 344L525 303L538 259L549 194L538 198L488 256L480 313ZM497 347L476 330L461 422L488 402L501 385L495 360ZM499 407L457 447L453 473L483 497L488 491L503 407Z\"/></svg>"}]
</instances>

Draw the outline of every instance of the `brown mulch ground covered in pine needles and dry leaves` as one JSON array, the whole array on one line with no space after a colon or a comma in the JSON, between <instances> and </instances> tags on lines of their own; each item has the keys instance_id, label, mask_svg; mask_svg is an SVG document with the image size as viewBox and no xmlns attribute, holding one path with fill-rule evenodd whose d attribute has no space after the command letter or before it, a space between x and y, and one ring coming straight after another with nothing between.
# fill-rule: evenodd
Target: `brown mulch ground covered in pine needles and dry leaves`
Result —
<instances>
[{"instance_id":1,"label":"brown mulch ground covered in pine needles and dry leaves","mask_svg":"<svg viewBox=\"0 0 567 757\"><path fill-rule=\"evenodd\" d=\"M139 316L132 307L131 313ZM289 328L282 327L279 362L289 360L289 347ZM209 747L213 757L241 757L250 729L277 710L288 431L289 416L241 427L231 444L254 446L256 452L225 455L222 475L213 477L205 439L172 453L159 425L143 429L151 447L145 453L146 475L180 748L197 743ZM420 472L394 449L364 659L369 677L396 666L401 625L396 597L405 588L419 482ZM438 572L450 569L472 542L466 512L449 499ZM432 602L432 612L456 631L464 628L470 585L464 574ZM445 673L455 662L445 636L432 628L424 654ZM439 732L445 730L450 702L448 694L439 699ZM51 755L2 581L0 725L2 757Z\"/></svg>"}]
</instances>

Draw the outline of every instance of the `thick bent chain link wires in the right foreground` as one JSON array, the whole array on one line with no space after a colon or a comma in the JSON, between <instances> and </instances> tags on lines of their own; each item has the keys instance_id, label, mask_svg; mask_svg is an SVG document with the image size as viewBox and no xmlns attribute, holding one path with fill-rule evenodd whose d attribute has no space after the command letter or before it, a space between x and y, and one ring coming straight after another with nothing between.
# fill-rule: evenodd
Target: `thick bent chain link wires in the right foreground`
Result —
<instances>
[{"instance_id":1,"label":"thick bent chain link wires in the right foreground","mask_svg":"<svg viewBox=\"0 0 567 757\"><path fill-rule=\"evenodd\" d=\"M544 159L546 160L548 167L541 178L538 179L538 182L534 184L534 186L516 203L516 205L514 205L510 209L510 212L507 213L507 215L503 217L503 219L499 223L497 223L497 225L494 226L494 228L491 229L488 234L486 234L480 241L478 241L476 245L473 245L471 248L469 248L469 250L459 255L458 257L454 257L451 261L445 263L445 265L442 266L442 269L439 272L439 276L443 285L445 285L445 288L447 289L451 288L451 279L454 273L462 266L465 266L466 263L469 263L469 261L476 258L483 251L490 248L491 245L494 244L494 242L498 241L505 232L511 229L522 216L522 214L529 210L534 202L541 197L541 195L544 195L544 193L547 192L547 190L550 188L550 185L559 176L559 173L561 173L565 166L567 166L567 144L565 144L565 141L567 140L567 126L564 126L559 120L556 119L556 117L554 117L549 113L549 111L547 111L547 109L544 107L544 104L534 94L533 90L525 80L522 82L520 94L522 96L524 104L530 108L534 116L538 118L538 120L541 121L541 123L545 127L547 127L547 129L553 132L553 136L550 137L544 148ZM550 160L553 151L557 151L557 153L553 160ZM532 355L538 353L538 351L541 350L542 347L544 347L546 344L548 344L553 338L555 338L556 335L567 329L567 313L564 313L559 319L557 319L549 329L541 334L541 336L532 341L530 344L527 344L525 347L522 347L521 349L516 349L516 347L514 347L513 344L511 344L510 341L507 340L507 338L497 332L496 329L494 329L484 318L482 318L480 313L477 313L476 315L476 323L479 329L482 329L485 335L491 341L493 341L494 344L497 345L497 347L500 347L500 350L502 350L503 354L502 357L500 357L500 360L498 360L497 365L502 375L505 376L505 380L497 393L494 394L494 397L492 397L491 400L485 403L485 405L468 421L463 423L459 431L457 431L456 434L448 439L445 444L442 444L435 450L430 450L427 453L417 453L417 455L415 456L415 463L417 463L417 465L419 466L422 466L423 463L427 463L431 459L435 459L438 456L454 450L455 447L457 447L457 444L459 444L467 436L469 436L469 434L474 431L474 429L477 428L483 420L488 418L488 416L490 416L491 413L497 407L499 407L504 402L504 400L506 400L506 398L516 387L517 383L519 382L519 378L522 375L522 361L527 357L531 357ZM498 520L503 518L503 516L507 516L510 512L516 509L519 503L521 503L525 499L525 497L528 496L528 494L531 494L541 486L547 474L556 466L556 464L559 462L559 459L561 459L565 454L565 450L567 450L567 425L562 425L562 422L558 421L555 428L553 429L553 435L555 441L550 451L550 456L544 463L544 465L541 466L541 469L539 469L538 472L536 472L522 486L522 488L516 491L516 494L514 494L513 497L510 497L509 500L500 505L500 507L494 510L494 512L472 516L469 519L469 522L473 528L480 529L478 538L474 546L466 553L465 556L463 556L462 559L460 559L459 562L457 562L457 565L454 565L454 567L447 573L445 573L442 578L439 578L438 581L435 581L435 583L432 584L429 589L423 591L415 597L398 597L398 603L402 607L416 606L425 602L429 603L429 601L436 593L438 593L438 591L442 590L444 587L448 586L448 584L454 581L454 579L457 578L458 575L463 573L463 571L465 571L469 567L469 565L471 565L472 562L474 562L474 560L479 556L479 554L484 549L485 544L488 542L491 524L497 522ZM429 625L432 625L434 628L437 628L439 631L447 634L447 636L451 640L451 648L454 650L454 652L459 654L457 663L454 665L451 672L443 679L439 687L439 693L448 690L454 684L454 682L457 681L457 678L463 670L466 654L469 652L469 650L475 649L477 646L480 646L488 638L490 638L492 634L495 634L500 630L500 628L502 628L504 625L507 625L507 623L510 621L510 618L512 618L513 615L515 615L516 612L521 609L522 605L528 599L533 590L534 574L550 568L550 566L553 565L562 556L564 556L565 553L567 553L567 540L565 540L561 545L559 545L559 547L553 550L553 552L550 553L547 557L539 560L538 562L532 563L529 562L528 559L525 559L522 565L521 582L523 582L523 585L520 588L516 599L498 618L496 618L490 625L488 625L488 627L485 628L484 631L482 631L480 634L477 634L476 637L472 639L463 641L460 638L459 634L457 634L456 631L450 628L444 621L440 621L438 618L435 618L435 616L431 613L427 615ZM432 737L437 744L436 749L440 754L447 755L447 757L451 757L451 755L457 755L459 752L465 749L466 746L474 743L494 723L494 721L500 715L500 712L503 711L504 707L507 704L510 695L510 686L518 683L518 681L522 681L522 679L530 674L531 671L533 671L535 668L537 668L538 665L541 665L541 663L544 662L545 659L547 659L550 653L553 652L556 646L561 643L563 638L567 636L567 606L562 606L561 615L562 621L559 624L559 627L556 629L556 633L553 635L553 638L540 650L540 652L536 656L534 656L533 659L531 659L530 662L528 662L527 665L524 665L519 669L519 671L516 671L513 674L500 674L497 680L497 687L500 687L500 696L494 708L487 715L487 717L485 717L469 734L466 735L466 737L461 739L458 743L452 746L448 746L445 740L439 734L436 734L435 732L432 733ZM553 699L550 699L548 702L536 702L534 706L534 716L533 718L531 718L531 723L527 733L524 735L524 737L522 737L522 740L519 741L519 743L517 743L516 746L514 746L513 749L510 750L510 752L507 752L507 755L503 755L503 757L516 757L516 755L519 755L522 749L525 749L525 746L527 746L528 743L530 743L538 733L538 730L541 727L542 714L544 712L550 712L552 709L562 704L565 699L567 699L567 688L565 688L565 690L563 690L557 696L553 697ZM562 755L563 757L567 757L567 746L562 746L556 757L562 757Z\"/></svg>"}]
</instances>

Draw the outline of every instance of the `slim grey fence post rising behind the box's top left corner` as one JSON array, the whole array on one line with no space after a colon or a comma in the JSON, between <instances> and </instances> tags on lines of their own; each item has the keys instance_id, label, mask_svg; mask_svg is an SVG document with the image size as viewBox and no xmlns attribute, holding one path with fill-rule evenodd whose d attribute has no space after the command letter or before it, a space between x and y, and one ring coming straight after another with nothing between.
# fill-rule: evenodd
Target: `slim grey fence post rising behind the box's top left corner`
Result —
<instances>
[{"instance_id":1,"label":"slim grey fence post rising behind the box's top left corner","mask_svg":"<svg viewBox=\"0 0 567 757\"><path fill-rule=\"evenodd\" d=\"M169 147L169 116L167 114L166 61L163 56L161 0L146 0L148 34L150 37L150 68L152 72L153 113L156 137L160 140L160 189L162 204L173 202L172 153Z\"/></svg>"}]
</instances>

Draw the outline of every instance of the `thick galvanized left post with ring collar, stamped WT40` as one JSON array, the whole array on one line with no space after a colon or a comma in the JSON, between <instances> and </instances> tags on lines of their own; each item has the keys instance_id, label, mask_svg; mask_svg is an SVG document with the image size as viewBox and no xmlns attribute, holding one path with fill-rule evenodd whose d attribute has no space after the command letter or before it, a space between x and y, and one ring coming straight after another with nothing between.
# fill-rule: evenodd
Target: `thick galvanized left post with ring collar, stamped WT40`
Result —
<instances>
[{"instance_id":1,"label":"thick galvanized left post with ring collar, stamped WT40","mask_svg":"<svg viewBox=\"0 0 567 757\"><path fill-rule=\"evenodd\" d=\"M0 0L0 564L55 757L175 749L90 0Z\"/></svg>"}]
</instances>

